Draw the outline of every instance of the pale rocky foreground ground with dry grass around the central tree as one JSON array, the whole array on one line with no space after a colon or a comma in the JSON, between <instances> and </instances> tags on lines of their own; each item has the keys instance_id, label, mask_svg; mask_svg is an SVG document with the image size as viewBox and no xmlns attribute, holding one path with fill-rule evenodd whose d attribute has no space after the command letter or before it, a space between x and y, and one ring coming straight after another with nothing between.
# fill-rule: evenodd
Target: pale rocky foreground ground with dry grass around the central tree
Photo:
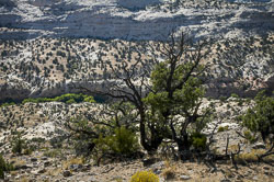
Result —
<instances>
[{"instance_id":1,"label":"pale rocky foreground ground with dry grass around the central tree","mask_svg":"<svg viewBox=\"0 0 274 182\"><path fill-rule=\"evenodd\" d=\"M213 105L216 109L217 118L204 129L205 134L214 135L214 148L218 153L226 151L227 137L230 138L228 150L237 150L241 146L241 153L246 160L254 158L255 152L263 152L265 145L256 143L250 145L239 137L236 132L241 132L237 116L244 113L253 104L252 101L230 98L228 100L204 100L203 106ZM0 153L10 161L14 171L7 173L9 181L92 181L92 182L128 182L130 177L140 170L152 170L163 182L170 171L174 173L173 181L273 181L273 167L266 164L249 163L239 164L236 170L230 162L216 163L216 169L205 163L174 162L170 155L171 148L160 147L159 153L163 153L156 161L148 163L146 159L126 160L123 162L107 162L98 167L95 160L87 160L76 157L73 139L65 127L70 117L88 116L102 109L98 103L66 104L25 103L0 107ZM23 155L12 151L12 141L15 132L22 132L22 139L27 148ZM169 158L164 158L164 153ZM252 156L253 155L253 156ZM273 155L270 157L273 161Z\"/></svg>"}]
</instances>

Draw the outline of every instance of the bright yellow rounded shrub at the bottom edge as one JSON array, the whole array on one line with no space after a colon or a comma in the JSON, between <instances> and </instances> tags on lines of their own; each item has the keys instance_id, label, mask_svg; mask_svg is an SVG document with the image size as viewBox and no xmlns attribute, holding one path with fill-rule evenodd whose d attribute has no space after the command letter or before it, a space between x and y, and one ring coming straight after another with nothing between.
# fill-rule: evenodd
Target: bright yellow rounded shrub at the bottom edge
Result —
<instances>
[{"instance_id":1,"label":"bright yellow rounded shrub at the bottom edge","mask_svg":"<svg viewBox=\"0 0 274 182\"><path fill-rule=\"evenodd\" d=\"M136 172L130 182L159 182L159 178L150 171Z\"/></svg>"}]
</instances>

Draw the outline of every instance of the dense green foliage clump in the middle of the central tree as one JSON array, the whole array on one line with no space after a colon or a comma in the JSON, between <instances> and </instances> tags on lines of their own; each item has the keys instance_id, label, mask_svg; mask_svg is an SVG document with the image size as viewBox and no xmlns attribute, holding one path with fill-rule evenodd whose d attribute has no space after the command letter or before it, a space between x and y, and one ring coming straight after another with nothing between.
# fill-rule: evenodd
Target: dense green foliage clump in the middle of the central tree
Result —
<instances>
[{"instance_id":1,"label":"dense green foliage clump in the middle of the central tree","mask_svg":"<svg viewBox=\"0 0 274 182\"><path fill-rule=\"evenodd\" d=\"M174 77L168 86L170 75L169 61L161 62L156 67L151 75L153 92L150 92L145 101L152 110L159 111L159 114L184 114L191 113L198 105L204 96L202 82L196 77L190 77L183 82L184 73L189 70L190 64L180 65L174 70ZM180 86L182 84L182 86Z\"/></svg>"}]
</instances>

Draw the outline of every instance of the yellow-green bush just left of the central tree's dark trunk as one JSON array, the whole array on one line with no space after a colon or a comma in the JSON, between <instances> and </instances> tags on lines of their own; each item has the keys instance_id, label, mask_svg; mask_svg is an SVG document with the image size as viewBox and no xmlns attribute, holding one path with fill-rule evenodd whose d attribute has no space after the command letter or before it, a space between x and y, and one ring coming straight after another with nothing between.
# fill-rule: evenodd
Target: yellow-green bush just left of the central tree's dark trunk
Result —
<instances>
[{"instance_id":1,"label":"yellow-green bush just left of the central tree's dark trunk","mask_svg":"<svg viewBox=\"0 0 274 182\"><path fill-rule=\"evenodd\" d=\"M137 136L123 126L116 128L112 136L101 135L95 139L95 144L103 152L109 150L119 155L130 155L139 148Z\"/></svg>"}]
</instances>

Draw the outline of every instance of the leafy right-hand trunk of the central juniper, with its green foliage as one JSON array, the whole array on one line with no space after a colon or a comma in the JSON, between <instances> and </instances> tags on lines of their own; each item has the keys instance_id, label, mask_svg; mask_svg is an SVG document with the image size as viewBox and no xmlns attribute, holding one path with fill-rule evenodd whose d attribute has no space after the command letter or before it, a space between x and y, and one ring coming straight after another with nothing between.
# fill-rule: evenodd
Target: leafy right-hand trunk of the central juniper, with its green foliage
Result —
<instances>
[{"instance_id":1,"label":"leafy right-hand trunk of the central juniper, with its green foliage","mask_svg":"<svg viewBox=\"0 0 274 182\"><path fill-rule=\"evenodd\" d=\"M178 45L179 50L170 50L169 60L155 67L150 77L151 91L144 99L151 118L164 130L163 137L178 144L180 157L192 146L204 149L206 139L201 130L210 120L210 109L201 109L205 93L201 80L205 70L201 65L202 45L197 45L195 54L189 50L191 46L183 42ZM197 135L192 138L193 133Z\"/></svg>"}]
</instances>

